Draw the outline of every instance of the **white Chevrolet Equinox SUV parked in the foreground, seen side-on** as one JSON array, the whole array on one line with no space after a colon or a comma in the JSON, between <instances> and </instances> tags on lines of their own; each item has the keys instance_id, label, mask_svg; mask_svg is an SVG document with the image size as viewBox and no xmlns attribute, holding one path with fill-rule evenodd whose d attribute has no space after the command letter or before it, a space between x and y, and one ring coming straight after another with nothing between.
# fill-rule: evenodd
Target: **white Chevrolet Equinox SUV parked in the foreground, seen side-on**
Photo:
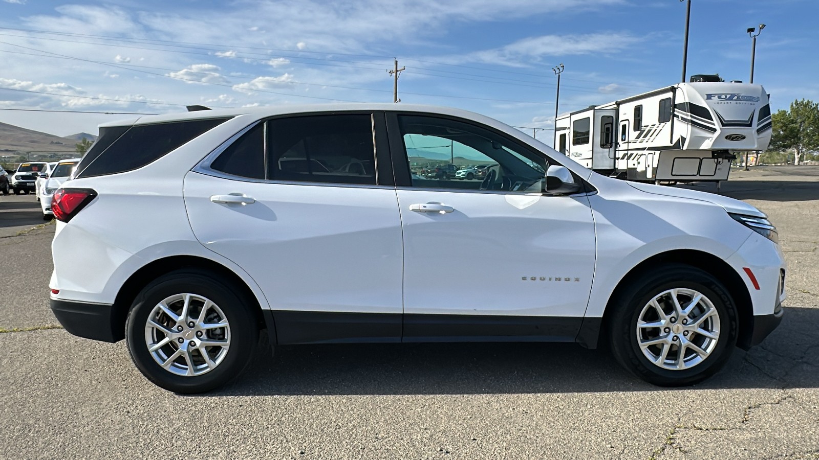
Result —
<instances>
[{"instance_id":1,"label":"white Chevrolet Equinox SUV parked in the foreground, seen side-on","mask_svg":"<svg viewBox=\"0 0 819 460\"><path fill-rule=\"evenodd\" d=\"M492 166L482 181L411 174L437 146ZM180 393L236 377L264 330L274 345L573 341L689 385L783 313L776 229L753 206L607 178L462 110L103 124L66 185L54 313L72 334L126 339L140 371Z\"/></svg>"}]
</instances>

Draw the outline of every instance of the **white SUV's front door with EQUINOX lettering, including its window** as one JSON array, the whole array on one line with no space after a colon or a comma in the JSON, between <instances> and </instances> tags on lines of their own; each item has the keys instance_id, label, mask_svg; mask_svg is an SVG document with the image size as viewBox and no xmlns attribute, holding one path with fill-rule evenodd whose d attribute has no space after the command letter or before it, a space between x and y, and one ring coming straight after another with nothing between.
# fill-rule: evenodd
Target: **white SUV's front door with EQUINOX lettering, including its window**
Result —
<instances>
[{"instance_id":1,"label":"white SUV's front door with EQUINOX lettering, including its window","mask_svg":"<svg viewBox=\"0 0 819 460\"><path fill-rule=\"evenodd\" d=\"M514 192L535 186L514 172L518 165L509 164L514 161L509 151L517 149L521 158L532 151L488 129L422 118L404 123L388 115L396 181L404 181L397 187L404 234L404 340L573 340L595 266L587 197ZM462 181L450 187L410 178L408 169L425 160L419 160L417 147L409 149L408 160L405 139L412 142L413 135L448 138L455 143L449 147L455 150L452 157L498 162L505 178L495 189L484 181L485 190L477 182L465 189L469 183ZM477 157L483 145L480 154L493 158Z\"/></svg>"}]
</instances>

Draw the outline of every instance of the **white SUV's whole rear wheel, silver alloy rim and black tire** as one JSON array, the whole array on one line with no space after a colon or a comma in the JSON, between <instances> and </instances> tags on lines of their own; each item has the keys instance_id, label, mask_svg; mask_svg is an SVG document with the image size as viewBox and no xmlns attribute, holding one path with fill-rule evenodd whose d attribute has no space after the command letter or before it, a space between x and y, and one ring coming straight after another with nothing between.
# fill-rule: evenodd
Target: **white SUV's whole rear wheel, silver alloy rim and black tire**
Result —
<instances>
[{"instance_id":1,"label":"white SUV's whole rear wheel, silver alloy rim and black tire","mask_svg":"<svg viewBox=\"0 0 819 460\"><path fill-rule=\"evenodd\" d=\"M139 371L165 390L213 390L251 362L259 341L255 318L235 286L205 271L175 271L133 301L128 350Z\"/></svg>"}]
</instances>

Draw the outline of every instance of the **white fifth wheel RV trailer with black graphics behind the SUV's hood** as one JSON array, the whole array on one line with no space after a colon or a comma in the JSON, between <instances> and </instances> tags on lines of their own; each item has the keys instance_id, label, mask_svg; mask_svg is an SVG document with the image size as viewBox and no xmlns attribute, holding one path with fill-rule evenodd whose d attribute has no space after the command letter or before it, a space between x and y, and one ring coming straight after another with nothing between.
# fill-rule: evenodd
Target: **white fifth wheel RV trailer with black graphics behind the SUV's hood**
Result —
<instances>
[{"instance_id":1,"label":"white fifth wheel RV trailer with black graphics behind the SUV's hood","mask_svg":"<svg viewBox=\"0 0 819 460\"><path fill-rule=\"evenodd\" d=\"M758 84L695 75L560 116L555 149L600 174L645 182L723 181L735 152L771 142L771 106Z\"/></svg>"}]
</instances>

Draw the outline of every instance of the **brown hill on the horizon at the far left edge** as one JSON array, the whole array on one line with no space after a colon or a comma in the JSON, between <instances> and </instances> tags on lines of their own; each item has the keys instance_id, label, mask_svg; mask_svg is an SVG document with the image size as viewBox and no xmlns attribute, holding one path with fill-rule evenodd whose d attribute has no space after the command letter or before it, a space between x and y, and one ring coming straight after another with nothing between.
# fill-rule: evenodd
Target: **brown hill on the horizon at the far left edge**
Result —
<instances>
[{"instance_id":1,"label":"brown hill on the horizon at the far left edge","mask_svg":"<svg viewBox=\"0 0 819 460\"><path fill-rule=\"evenodd\" d=\"M16 159L20 155L27 155L31 160L39 157L53 158L50 154L70 155L75 151L75 143L77 141L74 139L0 123L0 160L3 162L9 162L11 158Z\"/></svg>"}]
</instances>

